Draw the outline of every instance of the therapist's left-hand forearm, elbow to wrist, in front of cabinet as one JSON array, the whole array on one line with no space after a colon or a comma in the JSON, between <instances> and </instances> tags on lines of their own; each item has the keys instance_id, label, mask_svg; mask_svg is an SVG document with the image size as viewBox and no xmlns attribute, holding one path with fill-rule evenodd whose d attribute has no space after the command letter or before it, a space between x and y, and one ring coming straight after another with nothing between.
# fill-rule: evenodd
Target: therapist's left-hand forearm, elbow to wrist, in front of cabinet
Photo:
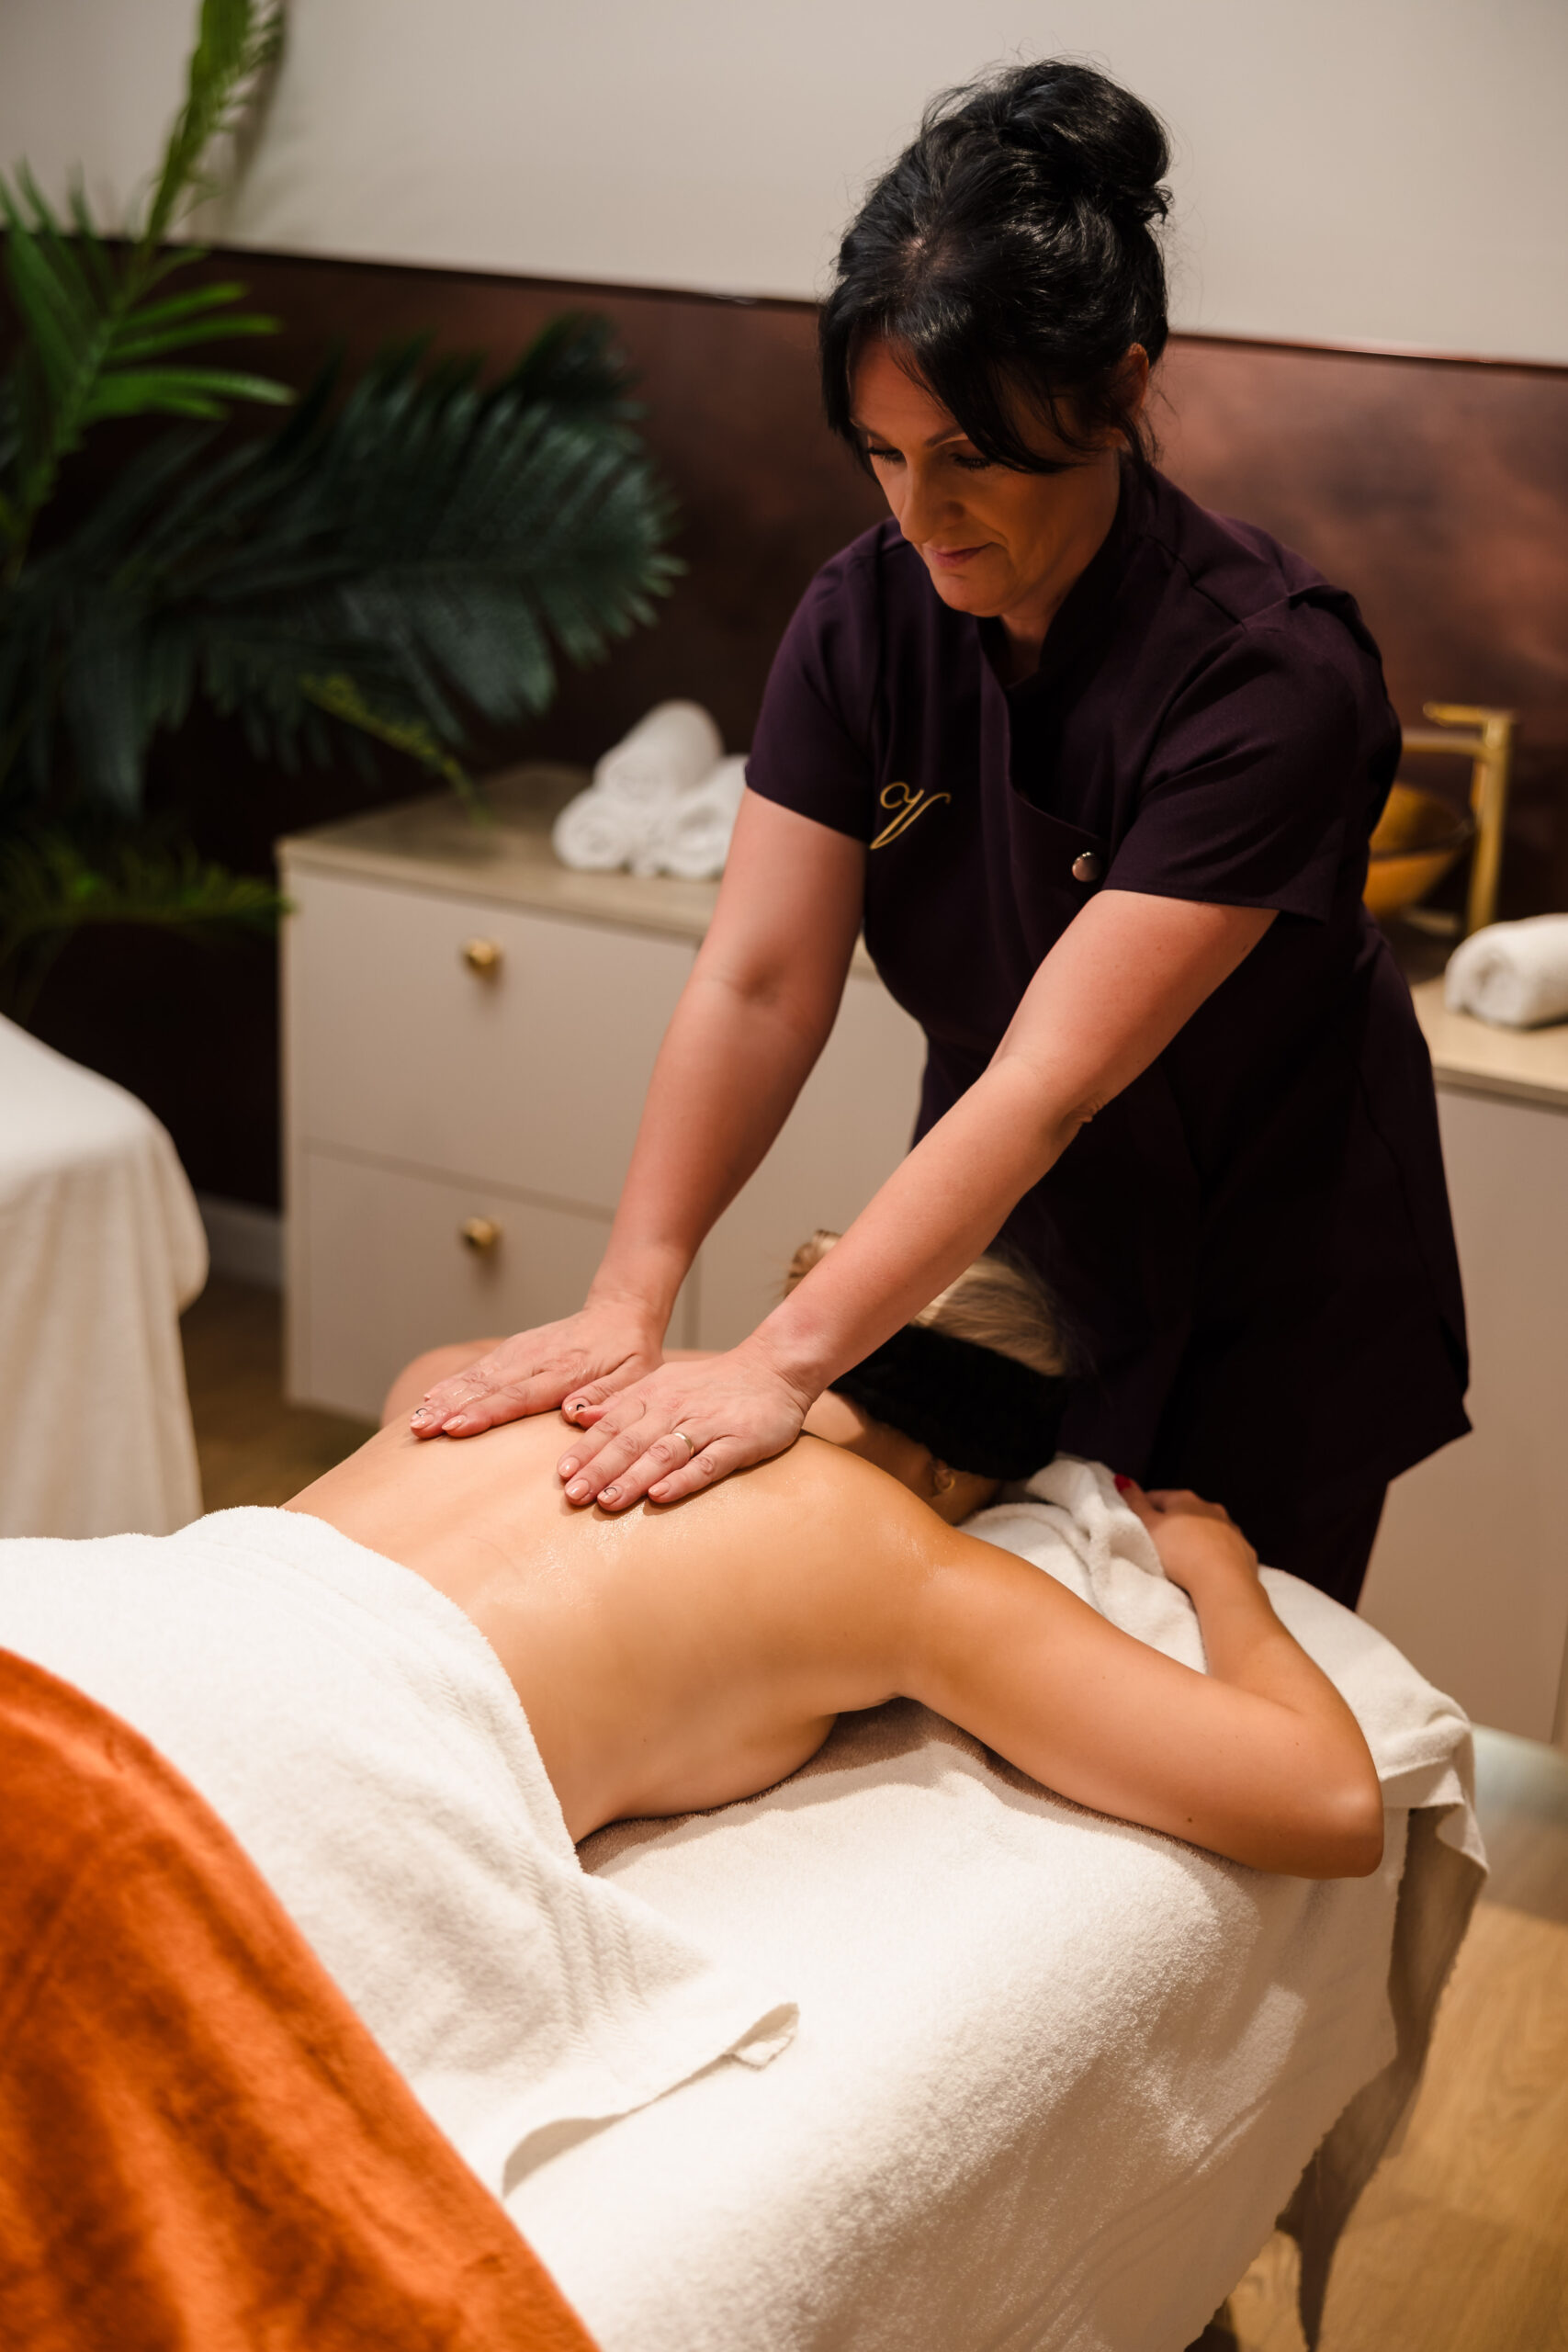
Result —
<instances>
[{"instance_id":1,"label":"therapist's left-hand forearm, elbow to wrist, in front of cabinet","mask_svg":"<svg viewBox=\"0 0 1568 2352\"><path fill-rule=\"evenodd\" d=\"M635 1305L663 1336L696 1251L766 1157L830 1025L830 1011L802 1016L693 974L654 1063L592 1301Z\"/></svg>"}]
</instances>

